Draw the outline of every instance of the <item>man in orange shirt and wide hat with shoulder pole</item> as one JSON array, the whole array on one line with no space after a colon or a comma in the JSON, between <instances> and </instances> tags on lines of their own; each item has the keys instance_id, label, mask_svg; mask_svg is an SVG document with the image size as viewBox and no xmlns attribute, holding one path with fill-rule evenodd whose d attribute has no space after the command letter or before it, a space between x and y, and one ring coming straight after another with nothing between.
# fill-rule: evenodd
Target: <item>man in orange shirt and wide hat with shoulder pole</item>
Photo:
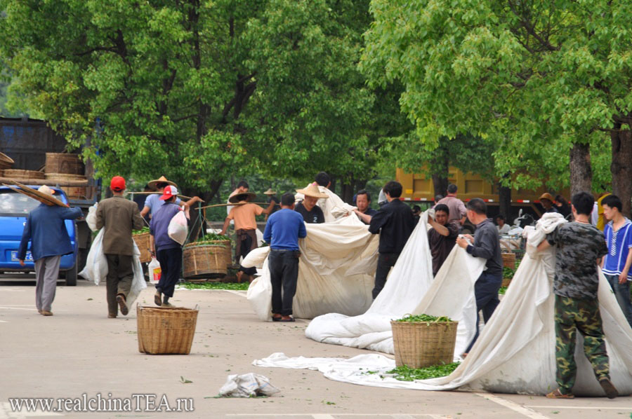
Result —
<instances>
[{"instance_id":1,"label":"man in orange shirt and wide hat with shoulder pole","mask_svg":"<svg viewBox=\"0 0 632 419\"><path fill-rule=\"evenodd\" d=\"M274 201L270 202L270 205L268 205L268 208L266 209L263 209L256 204L249 203L251 200L256 198L256 196L256 193L246 192L239 193L238 195L232 195L228 198L230 203L237 205L232 207L228 213L228 217L226 217L224 221L224 226L220 234L223 235L226 233L231 220L235 221L235 233L237 234L237 246L235 252L236 263L239 263L241 256L246 257L251 250L258 247L256 216L261 214L270 214L272 208L275 206ZM242 275L244 275L244 273L246 275L254 275L257 273L257 270L256 268L244 268L240 265L239 270L237 271L237 282L242 282Z\"/></svg>"}]
</instances>

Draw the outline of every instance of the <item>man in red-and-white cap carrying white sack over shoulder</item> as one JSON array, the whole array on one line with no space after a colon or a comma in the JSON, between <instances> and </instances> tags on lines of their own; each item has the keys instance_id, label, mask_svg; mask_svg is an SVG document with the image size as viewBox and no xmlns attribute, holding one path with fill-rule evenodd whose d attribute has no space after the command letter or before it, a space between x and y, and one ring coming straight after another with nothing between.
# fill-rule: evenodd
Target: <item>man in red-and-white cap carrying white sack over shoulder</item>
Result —
<instances>
[{"instance_id":1,"label":"man in red-and-white cap carrying white sack over shoulder","mask_svg":"<svg viewBox=\"0 0 632 419\"><path fill-rule=\"evenodd\" d=\"M173 307L169 298L173 297L173 291L182 271L182 245L169 237L169 223L173 216L182 211L176 204L178 189L176 186L167 185L164 188L161 200L164 201L150 222L150 234L152 235L152 250L160 262L160 281L156 284L154 303L162 307Z\"/></svg>"}]
</instances>

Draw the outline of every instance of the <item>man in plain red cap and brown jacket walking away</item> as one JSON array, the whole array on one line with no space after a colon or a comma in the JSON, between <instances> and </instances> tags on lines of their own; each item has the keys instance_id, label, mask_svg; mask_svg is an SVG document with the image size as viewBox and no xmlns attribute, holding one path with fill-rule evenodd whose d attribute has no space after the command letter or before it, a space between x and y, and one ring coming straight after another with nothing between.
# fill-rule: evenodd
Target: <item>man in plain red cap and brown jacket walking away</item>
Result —
<instances>
[{"instance_id":1,"label":"man in plain red cap and brown jacket walking away","mask_svg":"<svg viewBox=\"0 0 632 419\"><path fill-rule=\"evenodd\" d=\"M134 277L134 242L132 230L143 228L136 202L123 198L125 179L112 177L110 181L112 198L99 202L97 207L97 228L105 227L103 232L103 253L107 259L107 317L117 317L118 308L127 315L127 294ZM117 303L119 307L117 308Z\"/></svg>"}]
</instances>

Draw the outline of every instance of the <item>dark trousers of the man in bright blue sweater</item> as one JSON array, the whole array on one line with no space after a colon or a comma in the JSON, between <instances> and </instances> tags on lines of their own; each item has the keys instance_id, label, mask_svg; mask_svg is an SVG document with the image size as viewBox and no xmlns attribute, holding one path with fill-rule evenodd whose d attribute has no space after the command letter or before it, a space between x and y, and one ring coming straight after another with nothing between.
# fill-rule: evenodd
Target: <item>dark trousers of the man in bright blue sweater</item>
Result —
<instances>
[{"instance_id":1,"label":"dark trousers of the man in bright blue sweater","mask_svg":"<svg viewBox=\"0 0 632 419\"><path fill-rule=\"evenodd\" d=\"M298 251L271 249L268 267L272 284L272 312L289 316L298 280Z\"/></svg>"}]
</instances>

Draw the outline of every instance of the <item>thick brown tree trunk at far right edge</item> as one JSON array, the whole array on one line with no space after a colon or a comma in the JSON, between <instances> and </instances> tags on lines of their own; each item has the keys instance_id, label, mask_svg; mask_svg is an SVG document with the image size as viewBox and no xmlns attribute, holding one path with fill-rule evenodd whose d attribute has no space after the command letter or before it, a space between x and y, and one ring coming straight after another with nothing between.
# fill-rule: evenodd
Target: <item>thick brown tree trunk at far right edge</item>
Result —
<instances>
[{"instance_id":1,"label":"thick brown tree trunk at far right edge","mask_svg":"<svg viewBox=\"0 0 632 419\"><path fill-rule=\"evenodd\" d=\"M612 193L617 195L623 203L624 216L631 217L632 199L632 132L630 130L618 130L610 133L612 141Z\"/></svg>"}]
</instances>

